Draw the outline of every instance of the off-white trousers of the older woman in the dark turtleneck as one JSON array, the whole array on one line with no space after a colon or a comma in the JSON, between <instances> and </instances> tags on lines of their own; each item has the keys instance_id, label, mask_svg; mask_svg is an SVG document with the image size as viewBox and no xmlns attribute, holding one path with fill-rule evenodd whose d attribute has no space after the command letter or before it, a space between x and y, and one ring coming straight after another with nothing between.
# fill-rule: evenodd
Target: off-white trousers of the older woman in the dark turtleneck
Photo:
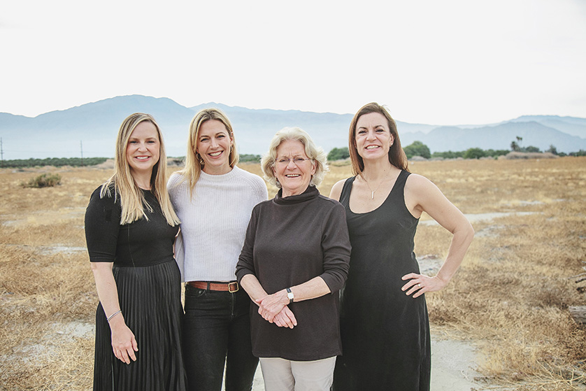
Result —
<instances>
[{"instance_id":1,"label":"off-white trousers of the older woman in the dark turtleneck","mask_svg":"<svg viewBox=\"0 0 586 391\"><path fill-rule=\"evenodd\" d=\"M336 357L315 361L291 361L261 357L265 391L329 391Z\"/></svg>"}]
</instances>

